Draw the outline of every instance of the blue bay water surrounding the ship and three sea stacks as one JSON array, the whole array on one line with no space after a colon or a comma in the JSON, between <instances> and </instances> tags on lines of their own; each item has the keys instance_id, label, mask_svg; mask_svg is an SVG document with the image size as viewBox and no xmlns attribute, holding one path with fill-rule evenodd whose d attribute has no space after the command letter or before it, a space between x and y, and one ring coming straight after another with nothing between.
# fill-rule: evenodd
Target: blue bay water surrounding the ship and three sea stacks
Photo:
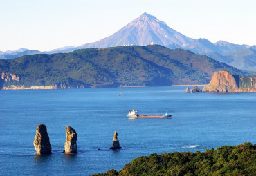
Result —
<instances>
[{"instance_id":1,"label":"blue bay water surrounding the ship and three sea stacks","mask_svg":"<svg viewBox=\"0 0 256 176\"><path fill-rule=\"evenodd\" d=\"M91 175L150 153L256 143L256 93L185 87L0 91L0 175ZM131 109L172 118L127 119ZM48 129L52 155L35 155L38 124ZM77 132L77 154L62 153L67 125ZM109 150L114 130L121 150Z\"/></svg>"}]
</instances>

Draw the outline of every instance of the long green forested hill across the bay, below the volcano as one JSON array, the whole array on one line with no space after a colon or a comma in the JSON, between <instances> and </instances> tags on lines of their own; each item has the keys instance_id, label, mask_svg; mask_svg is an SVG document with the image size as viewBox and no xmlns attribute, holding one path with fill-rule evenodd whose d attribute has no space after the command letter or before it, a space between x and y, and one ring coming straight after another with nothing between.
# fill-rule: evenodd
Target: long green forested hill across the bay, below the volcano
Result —
<instances>
[{"instance_id":1,"label":"long green forested hill across the bay, below the volcano","mask_svg":"<svg viewBox=\"0 0 256 176\"><path fill-rule=\"evenodd\" d=\"M250 75L188 50L158 45L93 48L0 59L0 89L12 85L93 88L208 84L218 70ZM19 79L11 79L13 75Z\"/></svg>"}]
</instances>

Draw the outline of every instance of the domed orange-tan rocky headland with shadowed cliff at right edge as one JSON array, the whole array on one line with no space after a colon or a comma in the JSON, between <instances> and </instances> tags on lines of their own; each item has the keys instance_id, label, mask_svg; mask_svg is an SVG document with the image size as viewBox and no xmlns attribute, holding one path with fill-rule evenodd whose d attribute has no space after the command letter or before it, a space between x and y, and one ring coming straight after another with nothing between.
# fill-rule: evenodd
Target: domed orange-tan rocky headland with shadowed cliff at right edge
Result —
<instances>
[{"instance_id":1,"label":"domed orange-tan rocky headland with shadowed cliff at right edge","mask_svg":"<svg viewBox=\"0 0 256 176\"><path fill-rule=\"evenodd\" d=\"M256 77L233 76L227 71L214 72L203 92L256 92Z\"/></svg>"}]
</instances>

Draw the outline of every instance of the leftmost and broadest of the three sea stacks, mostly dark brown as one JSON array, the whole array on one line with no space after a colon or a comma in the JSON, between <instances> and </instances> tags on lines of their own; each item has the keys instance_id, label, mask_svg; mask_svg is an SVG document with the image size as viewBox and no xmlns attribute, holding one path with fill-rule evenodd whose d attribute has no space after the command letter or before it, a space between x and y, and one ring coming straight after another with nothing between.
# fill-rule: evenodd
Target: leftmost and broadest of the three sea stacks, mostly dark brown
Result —
<instances>
[{"instance_id":1,"label":"leftmost and broadest of the three sea stacks, mostly dark brown","mask_svg":"<svg viewBox=\"0 0 256 176\"><path fill-rule=\"evenodd\" d=\"M39 124L37 126L34 146L35 150L37 151L37 155L51 154L52 147L46 126L44 124Z\"/></svg>"}]
</instances>

